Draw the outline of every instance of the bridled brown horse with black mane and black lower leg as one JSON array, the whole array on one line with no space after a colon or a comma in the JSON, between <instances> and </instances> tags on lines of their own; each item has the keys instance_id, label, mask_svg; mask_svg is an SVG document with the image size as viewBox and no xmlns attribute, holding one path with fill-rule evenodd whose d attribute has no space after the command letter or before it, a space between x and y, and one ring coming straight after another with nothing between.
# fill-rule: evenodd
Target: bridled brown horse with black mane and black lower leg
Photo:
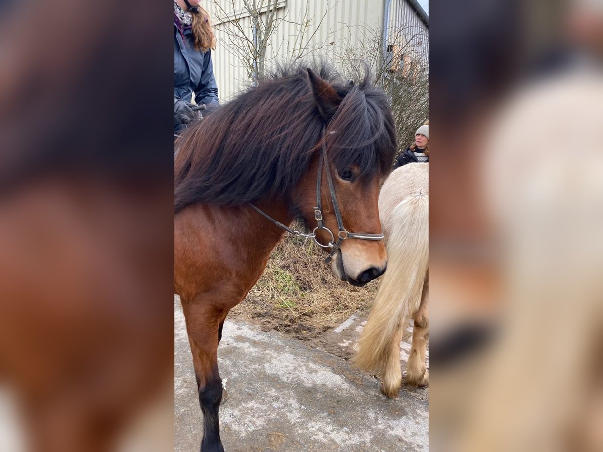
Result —
<instances>
[{"instance_id":1,"label":"bridled brown horse with black mane and black lower leg","mask_svg":"<svg viewBox=\"0 0 603 452\"><path fill-rule=\"evenodd\" d=\"M342 280L362 286L385 271L377 200L396 146L388 99L368 78L354 86L324 64L315 72L283 69L178 141L174 290L204 415L202 451L223 450L224 319L264 271L285 225L299 216L314 228L306 236L331 248Z\"/></svg>"}]
</instances>

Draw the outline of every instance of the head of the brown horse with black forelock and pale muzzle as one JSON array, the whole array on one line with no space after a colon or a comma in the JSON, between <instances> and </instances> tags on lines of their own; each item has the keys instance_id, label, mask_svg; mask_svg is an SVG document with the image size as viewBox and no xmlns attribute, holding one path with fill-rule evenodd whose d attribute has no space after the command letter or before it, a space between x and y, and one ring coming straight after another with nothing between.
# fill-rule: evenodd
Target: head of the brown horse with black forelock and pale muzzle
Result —
<instances>
[{"instance_id":1,"label":"head of the brown horse with black forelock and pale muzzle","mask_svg":"<svg viewBox=\"0 0 603 452\"><path fill-rule=\"evenodd\" d=\"M300 204L305 207L300 209L301 213L308 225L317 224L314 210L317 204L316 174L318 165L323 165L321 210L324 225L334 237L326 229L319 228L316 231L318 241L336 243L347 233L379 234L379 182L388 173L396 148L387 99L366 80L358 87L348 82L342 89L308 69L308 81L317 111L324 121L324 134L315 149L311 169L300 184L298 196L303 198ZM323 162L321 154L326 163L320 163ZM341 212L341 224L336 219L327 171ZM344 231L340 230L342 226ZM325 249L330 252L330 248ZM355 286L363 286L379 277L386 267L382 240L344 239L331 261L333 273Z\"/></svg>"}]
</instances>

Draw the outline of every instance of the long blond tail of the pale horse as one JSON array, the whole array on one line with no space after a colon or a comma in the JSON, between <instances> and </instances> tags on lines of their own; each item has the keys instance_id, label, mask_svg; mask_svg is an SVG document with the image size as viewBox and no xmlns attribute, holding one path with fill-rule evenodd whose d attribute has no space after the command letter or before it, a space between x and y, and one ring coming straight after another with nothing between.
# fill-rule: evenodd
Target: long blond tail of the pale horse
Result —
<instances>
[{"instance_id":1,"label":"long blond tail of the pale horse","mask_svg":"<svg viewBox=\"0 0 603 452\"><path fill-rule=\"evenodd\" d=\"M420 191L403 199L391 213L382 215L382 223L388 254L387 271L380 282L355 357L356 365L365 371L383 369L394 345L399 355L399 346L394 342L399 344L410 317L421 303L429 261L427 193Z\"/></svg>"}]
</instances>

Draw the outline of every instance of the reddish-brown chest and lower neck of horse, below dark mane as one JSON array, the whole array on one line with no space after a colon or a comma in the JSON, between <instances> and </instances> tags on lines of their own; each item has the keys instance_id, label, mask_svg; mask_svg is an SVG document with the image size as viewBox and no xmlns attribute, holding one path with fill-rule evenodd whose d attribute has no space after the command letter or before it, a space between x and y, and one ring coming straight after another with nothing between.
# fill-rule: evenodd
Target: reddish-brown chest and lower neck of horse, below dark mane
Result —
<instances>
[{"instance_id":1,"label":"reddish-brown chest and lower neck of horse, below dark mane","mask_svg":"<svg viewBox=\"0 0 603 452\"><path fill-rule=\"evenodd\" d=\"M283 224L289 224L284 202L264 199L257 207ZM260 277L274 246L283 236L251 206L194 204L178 212L174 221L174 278L176 293L191 300L210 292L217 283L237 281L233 300Z\"/></svg>"}]
</instances>

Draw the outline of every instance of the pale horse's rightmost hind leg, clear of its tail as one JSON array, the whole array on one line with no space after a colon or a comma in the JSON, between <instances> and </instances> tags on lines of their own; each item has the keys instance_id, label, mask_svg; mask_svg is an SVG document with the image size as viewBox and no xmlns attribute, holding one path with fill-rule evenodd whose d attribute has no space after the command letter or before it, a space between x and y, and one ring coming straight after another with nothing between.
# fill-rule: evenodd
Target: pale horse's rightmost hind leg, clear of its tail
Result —
<instances>
[{"instance_id":1,"label":"pale horse's rightmost hind leg, clear of its tail","mask_svg":"<svg viewBox=\"0 0 603 452\"><path fill-rule=\"evenodd\" d=\"M425 349L429 337L429 281L425 281L421 304L414 315L412 348L406 366L406 381L409 385L425 388L429 384L429 372L425 365Z\"/></svg>"}]
</instances>

